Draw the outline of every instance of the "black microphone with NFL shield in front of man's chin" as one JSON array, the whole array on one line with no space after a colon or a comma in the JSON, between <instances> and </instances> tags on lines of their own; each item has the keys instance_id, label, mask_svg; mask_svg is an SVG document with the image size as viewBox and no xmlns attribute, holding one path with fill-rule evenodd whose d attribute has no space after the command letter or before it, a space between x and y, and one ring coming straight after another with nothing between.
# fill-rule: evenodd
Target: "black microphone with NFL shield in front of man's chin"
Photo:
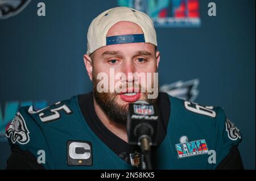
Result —
<instances>
[{"instance_id":1,"label":"black microphone with NFL shield in front of man's chin","mask_svg":"<svg viewBox=\"0 0 256 181\"><path fill-rule=\"evenodd\" d=\"M157 104L149 104L142 100L129 104L128 143L141 147L142 169L152 169L150 146L157 144L159 120L160 112Z\"/></svg>"}]
</instances>

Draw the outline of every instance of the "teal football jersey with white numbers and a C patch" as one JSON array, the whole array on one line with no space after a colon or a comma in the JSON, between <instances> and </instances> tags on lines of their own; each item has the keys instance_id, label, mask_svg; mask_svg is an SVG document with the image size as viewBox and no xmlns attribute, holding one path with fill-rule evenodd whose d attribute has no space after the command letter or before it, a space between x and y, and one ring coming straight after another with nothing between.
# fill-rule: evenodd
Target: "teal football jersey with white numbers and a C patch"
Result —
<instances>
[{"instance_id":1,"label":"teal football jersey with white numbers and a C patch","mask_svg":"<svg viewBox=\"0 0 256 181\"><path fill-rule=\"evenodd\" d=\"M170 116L153 155L154 169L216 169L241 141L240 131L220 107L168 99ZM6 137L11 146L30 151L45 169L136 169L90 128L78 96L39 111L20 108ZM139 161L134 157L133 162Z\"/></svg>"}]
</instances>

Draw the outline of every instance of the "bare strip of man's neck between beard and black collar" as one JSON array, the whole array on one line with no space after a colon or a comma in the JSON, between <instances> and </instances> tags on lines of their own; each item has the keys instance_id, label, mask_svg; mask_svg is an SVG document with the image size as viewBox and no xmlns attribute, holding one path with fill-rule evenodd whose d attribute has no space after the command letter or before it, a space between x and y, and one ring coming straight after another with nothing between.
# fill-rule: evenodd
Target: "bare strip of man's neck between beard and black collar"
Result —
<instances>
[{"instance_id":1,"label":"bare strip of man's neck between beard and black collar","mask_svg":"<svg viewBox=\"0 0 256 181\"><path fill-rule=\"evenodd\" d=\"M105 125L105 127L108 128L109 131L114 133L116 136L121 138L123 141L128 142L126 126L114 123L114 121L109 120L105 112L102 111L101 107L96 103L96 100L94 99L94 97L93 97L93 106L94 106L96 115L101 120L101 122Z\"/></svg>"}]
</instances>

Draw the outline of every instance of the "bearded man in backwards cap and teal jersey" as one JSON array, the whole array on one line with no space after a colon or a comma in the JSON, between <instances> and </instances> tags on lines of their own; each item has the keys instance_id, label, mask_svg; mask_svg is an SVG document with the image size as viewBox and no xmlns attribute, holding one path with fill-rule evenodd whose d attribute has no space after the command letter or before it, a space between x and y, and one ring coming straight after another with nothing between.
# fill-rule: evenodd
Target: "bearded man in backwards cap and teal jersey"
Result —
<instances>
[{"instance_id":1,"label":"bearded man in backwards cap and teal jersey","mask_svg":"<svg viewBox=\"0 0 256 181\"><path fill-rule=\"evenodd\" d=\"M7 169L140 169L141 149L128 143L126 126L129 104L138 101L160 109L153 169L243 168L241 134L222 108L158 92L160 52L146 14L106 10L90 24L87 40L93 91L39 111L20 108L6 132ZM209 153L216 155L212 162Z\"/></svg>"}]
</instances>

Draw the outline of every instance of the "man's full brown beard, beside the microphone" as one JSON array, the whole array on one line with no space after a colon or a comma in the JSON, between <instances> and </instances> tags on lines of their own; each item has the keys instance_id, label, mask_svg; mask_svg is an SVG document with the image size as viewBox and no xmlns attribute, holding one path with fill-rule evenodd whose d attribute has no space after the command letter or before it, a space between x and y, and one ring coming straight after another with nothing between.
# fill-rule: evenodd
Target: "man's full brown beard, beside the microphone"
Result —
<instances>
[{"instance_id":1,"label":"man's full brown beard, beside the microphone","mask_svg":"<svg viewBox=\"0 0 256 181\"><path fill-rule=\"evenodd\" d=\"M96 103L111 121L120 125L126 125L129 103L123 105L118 104L117 96L119 94L117 92L98 92L98 82L100 82L100 80L97 80L97 75L93 74L93 95ZM139 85L139 90L141 90L141 85ZM150 93L148 93L147 90L146 92L141 92L141 97L143 97L146 102L154 104L158 101L158 98L148 99L148 94Z\"/></svg>"}]
</instances>

